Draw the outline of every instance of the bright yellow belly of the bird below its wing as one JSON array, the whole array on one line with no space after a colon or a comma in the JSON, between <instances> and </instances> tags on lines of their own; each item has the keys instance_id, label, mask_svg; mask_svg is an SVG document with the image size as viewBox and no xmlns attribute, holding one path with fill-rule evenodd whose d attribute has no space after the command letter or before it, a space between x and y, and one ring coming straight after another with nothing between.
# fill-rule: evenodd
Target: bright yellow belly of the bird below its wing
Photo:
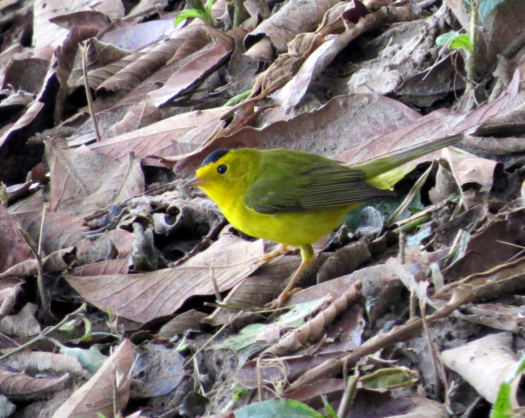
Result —
<instances>
[{"instance_id":1,"label":"bright yellow belly of the bird below its wing","mask_svg":"<svg viewBox=\"0 0 525 418\"><path fill-rule=\"evenodd\" d=\"M221 209L230 224L248 235L302 247L334 231L345 214L355 206L358 205L276 215L263 215L246 208L242 203Z\"/></svg>"}]
</instances>

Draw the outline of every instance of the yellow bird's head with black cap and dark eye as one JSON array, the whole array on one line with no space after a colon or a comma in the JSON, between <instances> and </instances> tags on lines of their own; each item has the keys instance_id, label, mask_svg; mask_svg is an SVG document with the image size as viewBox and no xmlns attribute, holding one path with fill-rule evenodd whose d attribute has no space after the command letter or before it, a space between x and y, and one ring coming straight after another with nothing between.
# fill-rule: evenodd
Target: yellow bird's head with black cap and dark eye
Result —
<instances>
[{"instance_id":1,"label":"yellow bird's head with black cap and dark eye","mask_svg":"<svg viewBox=\"0 0 525 418\"><path fill-rule=\"evenodd\" d=\"M232 192L232 188L240 187L240 183L246 178L252 151L256 152L246 148L214 151L205 158L195 177L184 187L201 187L212 199L214 197L210 193Z\"/></svg>"}]
</instances>

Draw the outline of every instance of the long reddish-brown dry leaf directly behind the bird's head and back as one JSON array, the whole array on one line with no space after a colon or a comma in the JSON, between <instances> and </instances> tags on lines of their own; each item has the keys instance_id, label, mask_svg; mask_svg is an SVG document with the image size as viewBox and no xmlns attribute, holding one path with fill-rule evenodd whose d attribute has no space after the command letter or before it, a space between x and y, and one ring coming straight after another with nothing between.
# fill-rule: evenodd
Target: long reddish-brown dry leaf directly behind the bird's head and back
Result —
<instances>
[{"instance_id":1,"label":"long reddish-brown dry leaf directly behind the bird's head and back","mask_svg":"<svg viewBox=\"0 0 525 418\"><path fill-rule=\"evenodd\" d=\"M380 110L379 110L380 109ZM388 116L387 116L388 115ZM343 150L362 149L372 139L391 132L395 127L417 123L421 116L397 100L379 95L340 95L318 110L279 121L262 130L243 127L229 137L219 137L194 153L178 156L180 173L193 174L206 155L219 148L294 148L334 157ZM416 122L414 122L416 121ZM375 153L363 153L373 157ZM355 154L355 151L353 152ZM338 160L345 161L343 157Z\"/></svg>"}]
</instances>

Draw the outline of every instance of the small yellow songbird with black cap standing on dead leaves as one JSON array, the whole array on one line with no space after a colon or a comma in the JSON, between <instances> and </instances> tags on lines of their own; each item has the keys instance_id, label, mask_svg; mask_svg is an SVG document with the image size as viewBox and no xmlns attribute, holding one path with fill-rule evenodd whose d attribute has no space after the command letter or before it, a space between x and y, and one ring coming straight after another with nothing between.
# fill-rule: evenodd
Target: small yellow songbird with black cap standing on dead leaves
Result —
<instances>
[{"instance_id":1,"label":"small yellow songbird with black cap standing on dead leaves","mask_svg":"<svg viewBox=\"0 0 525 418\"><path fill-rule=\"evenodd\" d=\"M314 242L334 231L352 208L391 195L390 188L407 171L397 167L461 139L428 141L354 166L298 150L219 149L205 158L185 187L203 189L236 229L279 242L265 259L287 246L301 251L301 265L269 305L281 307L312 261Z\"/></svg>"}]
</instances>

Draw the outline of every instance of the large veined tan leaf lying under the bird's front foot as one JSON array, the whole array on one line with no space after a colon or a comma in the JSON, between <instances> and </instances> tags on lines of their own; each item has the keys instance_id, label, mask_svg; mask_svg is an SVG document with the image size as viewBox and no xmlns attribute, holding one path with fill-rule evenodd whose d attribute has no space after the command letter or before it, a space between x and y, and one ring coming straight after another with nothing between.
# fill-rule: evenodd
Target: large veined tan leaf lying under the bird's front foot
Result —
<instances>
[{"instance_id":1,"label":"large veined tan leaf lying under the bird's front foot","mask_svg":"<svg viewBox=\"0 0 525 418\"><path fill-rule=\"evenodd\" d=\"M226 291L256 270L263 240L246 242L234 235L221 239L175 268L139 274L66 276L85 300L99 309L146 322L173 314L194 295L213 295L213 278Z\"/></svg>"}]
</instances>

